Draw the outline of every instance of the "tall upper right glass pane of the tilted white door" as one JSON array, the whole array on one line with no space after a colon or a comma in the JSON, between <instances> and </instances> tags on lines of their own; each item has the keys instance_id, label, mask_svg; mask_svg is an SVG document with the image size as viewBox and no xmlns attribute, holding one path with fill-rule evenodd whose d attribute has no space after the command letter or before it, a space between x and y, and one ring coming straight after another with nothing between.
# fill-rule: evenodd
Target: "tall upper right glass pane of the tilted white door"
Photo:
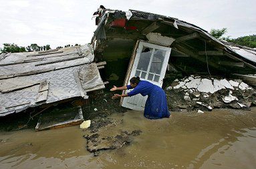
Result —
<instances>
[{"instance_id":1,"label":"tall upper right glass pane of the tilted white door","mask_svg":"<svg viewBox=\"0 0 256 169\"><path fill-rule=\"evenodd\" d=\"M166 51L156 49L153 54L153 59L150 67L150 73L156 73L160 75L162 70L162 63L164 62L164 56Z\"/></svg>"}]
</instances>

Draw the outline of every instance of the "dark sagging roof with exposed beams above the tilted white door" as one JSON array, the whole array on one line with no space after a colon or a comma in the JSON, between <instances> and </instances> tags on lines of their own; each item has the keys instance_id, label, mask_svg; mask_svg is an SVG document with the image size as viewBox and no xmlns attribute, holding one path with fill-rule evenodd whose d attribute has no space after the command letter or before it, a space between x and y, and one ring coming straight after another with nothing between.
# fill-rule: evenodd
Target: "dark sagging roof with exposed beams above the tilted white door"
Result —
<instances>
[{"instance_id":1,"label":"dark sagging roof with exposed beams above the tilted white door","mask_svg":"<svg viewBox=\"0 0 256 169\"><path fill-rule=\"evenodd\" d=\"M124 19L123 23L122 19ZM255 51L241 49L241 47L239 51L216 39L201 27L173 17L144 11L130 9L125 12L106 9L94 32L93 41L100 40L102 43L98 45L98 48L96 47L97 52L103 51L101 47L104 46L104 39L107 39L106 42L112 39L150 41L147 36L149 33L158 33L162 37L174 39L168 47L193 57L197 61L205 63L205 57L208 56L209 66L214 69L238 73L236 67L239 66L244 68L245 73L256 73ZM232 69L227 67L232 67Z\"/></svg>"}]
</instances>

